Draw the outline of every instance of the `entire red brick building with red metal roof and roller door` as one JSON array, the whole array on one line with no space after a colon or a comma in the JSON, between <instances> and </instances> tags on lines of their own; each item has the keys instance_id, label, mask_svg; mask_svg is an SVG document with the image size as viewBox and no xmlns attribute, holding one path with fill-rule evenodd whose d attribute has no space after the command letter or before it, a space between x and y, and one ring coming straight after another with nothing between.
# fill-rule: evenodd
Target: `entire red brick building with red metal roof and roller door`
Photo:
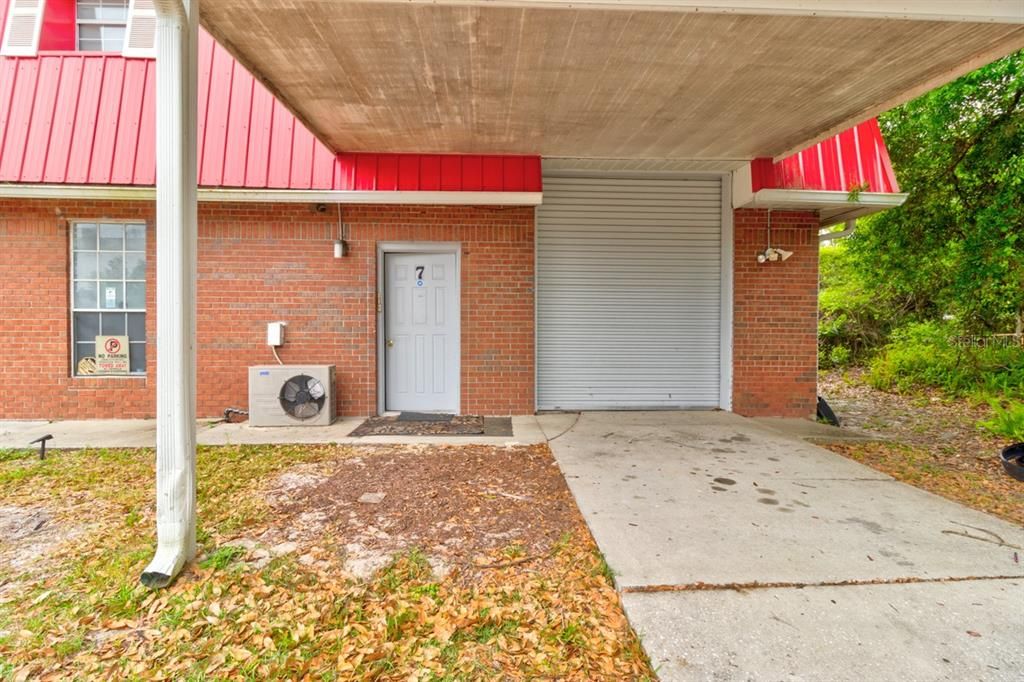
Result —
<instances>
[{"instance_id":1,"label":"entire red brick building with red metal roof and roller door","mask_svg":"<svg viewBox=\"0 0 1024 682\"><path fill-rule=\"evenodd\" d=\"M28 4L0 5L0 418L152 417L152 7ZM199 115L200 416L247 407L283 321L340 415L810 417L818 230L905 198L873 119L775 161L336 153L208 35ZM97 335L127 374L89 374Z\"/></svg>"}]
</instances>

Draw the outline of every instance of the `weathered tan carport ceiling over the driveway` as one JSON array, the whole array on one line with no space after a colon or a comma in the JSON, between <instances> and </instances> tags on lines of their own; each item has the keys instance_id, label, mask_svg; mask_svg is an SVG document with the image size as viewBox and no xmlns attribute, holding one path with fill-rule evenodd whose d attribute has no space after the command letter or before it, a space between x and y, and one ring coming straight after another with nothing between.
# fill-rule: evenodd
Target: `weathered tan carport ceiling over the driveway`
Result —
<instances>
[{"instance_id":1,"label":"weathered tan carport ceiling over the driveway","mask_svg":"<svg viewBox=\"0 0 1024 682\"><path fill-rule=\"evenodd\" d=\"M201 12L346 152L779 157L1024 47L1020 0L204 0Z\"/></svg>"}]
</instances>

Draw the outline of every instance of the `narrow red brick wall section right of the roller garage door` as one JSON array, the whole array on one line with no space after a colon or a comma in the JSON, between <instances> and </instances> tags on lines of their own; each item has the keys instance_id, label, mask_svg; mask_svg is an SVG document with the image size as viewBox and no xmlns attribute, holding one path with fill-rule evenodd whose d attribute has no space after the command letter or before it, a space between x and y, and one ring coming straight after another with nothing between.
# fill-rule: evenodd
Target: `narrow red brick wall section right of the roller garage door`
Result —
<instances>
[{"instance_id":1,"label":"narrow red brick wall section right of the roller garage door","mask_svg":"<svg viewBox=\"0 0 1024 682\"><path fill-rule=\"evenodd\" d=\"M758 263L768 212L734 213L732 409L745 416L813 417L817 403L818 220L772 211L784 261Z\"/></svg>"}]
</instances>

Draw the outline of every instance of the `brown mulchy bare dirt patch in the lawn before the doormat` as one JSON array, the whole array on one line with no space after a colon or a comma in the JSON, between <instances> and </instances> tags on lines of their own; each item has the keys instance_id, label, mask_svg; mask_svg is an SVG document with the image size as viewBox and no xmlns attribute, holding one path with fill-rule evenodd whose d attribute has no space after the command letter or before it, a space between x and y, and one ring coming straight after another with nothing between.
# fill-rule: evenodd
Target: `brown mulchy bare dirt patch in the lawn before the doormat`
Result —
<instances>
[{"instance_id":1,"label":"brown mulchy bare dirt patch in the lawn before the doormat","mask_svg":"<svg viewBox=\"0 0 1024 682\"><path fill-rule=\"evenodd\" d=\"M258 536L260 544L296 552L310 544L333 547L359 578L416 548L436 572L469 580L503 558L544 560L565 534L583 526L546 446L348 452L271 483L273 521ZM293 550L287 543L297 545ZM497 561L496 552L503 553Z\"/></svg>"}]
</instances>

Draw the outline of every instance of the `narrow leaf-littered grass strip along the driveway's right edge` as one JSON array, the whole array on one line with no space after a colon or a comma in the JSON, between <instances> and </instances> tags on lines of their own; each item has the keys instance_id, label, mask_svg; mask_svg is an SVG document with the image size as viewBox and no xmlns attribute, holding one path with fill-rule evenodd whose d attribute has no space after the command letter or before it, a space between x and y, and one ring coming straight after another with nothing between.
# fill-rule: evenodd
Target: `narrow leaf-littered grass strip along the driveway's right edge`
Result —
<instances>
[{"instance_id":1,"label":"narrow leaf-littered grass strip along the driveway's right edge","mask_svg":"<svg viewBox=\"0 0 1024 682\"><path fill-rule=\"evenodd\" d=\"M905 483L941 495L1013 523L1024 521L1024 487L1001 469L963 469L920 445L897 442L824 443Z\"/></svg>"}]
</instances>

